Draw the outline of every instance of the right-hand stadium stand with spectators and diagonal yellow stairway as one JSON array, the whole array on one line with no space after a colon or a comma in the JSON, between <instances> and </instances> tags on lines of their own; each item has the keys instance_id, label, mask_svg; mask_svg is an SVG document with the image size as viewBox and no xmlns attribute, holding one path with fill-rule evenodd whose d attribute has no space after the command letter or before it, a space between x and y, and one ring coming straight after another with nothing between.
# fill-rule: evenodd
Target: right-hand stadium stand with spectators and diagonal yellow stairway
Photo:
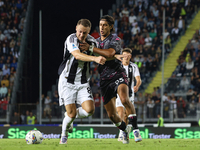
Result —
<instances>
[{"instance_id":1,"label":"right-hand stadium stand with spectators and diagonal yellow stairway","mask_svg":"<svg viewBox=\"0 0 200 150\"><path fill-rule=\"evenodd\" d=\"M185 40L188 39L186 37L190 37L191 34L193 34L194 29L198 29L197 24L199 21L197 21L197 18L199 17L199 13L197 14L197 11L199 6L199 1L192 1L191 3L183 3L180 1L178 3L175 1L116 0L116 4L113 4L112 10L108 11L108 14L113 16L115 19L115 34L122 39L122 47L129 47L133 50L132 61L138 65L140 70L143 83L135 97L135 107L139 122L156 122L157 114L160 113L160 64L163 38L166 54L165 68L167 67L165 69L165 77L169 78L176 68L176 64L172 62L176 61L180 52L184 49L184 45L187 43ZM165 32L164 35L162 35L162 13L164 8L166 10L166 20ZM193 19L195 16L196 18ZM191 21L192 24L189 25ZM194 23L196 23L196 25L194 25ZM91 33L95 38L99 37L96 30L98 31L98 28ZM196 31L196 34L199 35L199 30ZM193 41L195 40L196 39L194 38ZM181 44L181 46L179 46L179 44ZM197 57L197 59L199 58ZM196 65L198 65L198 63L196 63ZM95 111L95 114L92 117L85 121L84 119L77 120L79 123L109 122L100 100L101 93L99 90L99 74L97 67L98 65L96 63L91 62L90 85L97 111ZM197 107L194 106L194 103L188 103L190 101L186 100L186 95L183 97L179 97L180 94L177 95L177 92L183 91L182 93L184 93L189 89L190 84L185 85L185 80L192 83L192 79L189 79L188 74L191 74L190 71L192 70L193 72L195 71L194 69L191 69L191 64L188 64L187 67L190 69L187 70L184 81L180 76L174 74L172 75L172 78L166 79L166 93L163 95L165 101L163 117L166 122L180 121L181 118L187 118L187 120L190 120L191 118L188 119L189 116L197 116ZM57 91L57 82L58 81L56 81L56 85L52 86L52 91L47 94L52 97L52 99L54 98L54 91ZM145 88L147 88L147 90L145 90ZM188 93L190 93L191 96L191 89L189 89ZM196 92L196 96L197 95L198 92ZM196 101L198 101L198 98L196 97ZM51 110L53 110L53 105L51 108ZM104 121L101 121L101 116L104 118ZM53 112L52 118L55 118L55 113ZM191 120L194 121L195 119L196 118ZM43 121L45 121L45 119Z\"/></svg>"}]
</instances>

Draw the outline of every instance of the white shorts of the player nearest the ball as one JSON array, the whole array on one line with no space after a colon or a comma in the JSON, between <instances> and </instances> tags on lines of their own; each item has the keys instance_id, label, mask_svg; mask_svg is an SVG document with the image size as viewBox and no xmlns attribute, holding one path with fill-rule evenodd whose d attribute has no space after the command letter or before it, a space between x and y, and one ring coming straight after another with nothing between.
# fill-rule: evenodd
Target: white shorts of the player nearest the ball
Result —
<instances>
[{"instance_id":1,"label":"white shorts of the player nearest the ball","mask_svg":"<svg viewBox=\"0 0 200 150\"><path fill-rule=\"evenodd\" d=\"M84 101L94 101L89 83L71 84L62 75L60 75L58 82L58 94L60 106L75 104L75 102L81 105Z\"/></svg>"}]
</instances>

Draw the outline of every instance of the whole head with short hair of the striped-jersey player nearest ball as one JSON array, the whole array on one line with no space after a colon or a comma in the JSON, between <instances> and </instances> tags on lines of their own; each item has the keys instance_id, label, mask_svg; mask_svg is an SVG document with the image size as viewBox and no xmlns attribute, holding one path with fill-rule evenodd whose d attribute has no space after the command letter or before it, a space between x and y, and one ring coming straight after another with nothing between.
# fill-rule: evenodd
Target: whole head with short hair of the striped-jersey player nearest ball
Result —
<instances>
[{"instance_id":1,"label":"whole head with short hair of the striped-jersey player nearest ball","mask_svg":"<svg viewBox=\"0 0 200 150\"><path fill-rule=\"evenodd\" d=\"M76 25L76 36L81 42L85 42L87 35L90 33L91 22L88 19L81 19Z\"/></svg>"}]
</instances>

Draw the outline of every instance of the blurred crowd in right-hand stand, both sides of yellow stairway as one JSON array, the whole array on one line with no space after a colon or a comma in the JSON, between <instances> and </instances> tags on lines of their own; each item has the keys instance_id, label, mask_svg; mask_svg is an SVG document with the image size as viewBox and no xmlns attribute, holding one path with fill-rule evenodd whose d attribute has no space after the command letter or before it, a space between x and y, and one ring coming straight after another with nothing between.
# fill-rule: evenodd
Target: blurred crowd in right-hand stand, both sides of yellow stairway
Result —
<instances>
[{"instance_id":1,"label":"blurred crowd in right-hand stand, both sides of yellow stairway","mask_svg":"<svg viewBox=\"0 0 200 150\"><path fill-rule=\"evenodd\" d=\"M122 47L133 50L132 62L138 65L141 79L149 82L152 73L159 69L162 43L165 54L170 53L172 44L185 33L188 20L197 12L200 0L126 0L113 12L115 34L122 39ZM163 9L165 9L165 31L163 33ZM175 118L195 115L199 103L200 79L200 30L195 35L177 60L178 66L172 78L166 84L164 98L164 117L169 117L173 110ZM91 34L98 38L97 30ZM90 86L94 94L96 113L100 109L99 74L97 64L91 63ZM191 78L190 80L187 78ZM174 86L176 85L176 86ZM140 87L140 90L143 86ZM174 96L177 91L190 93L185 97ZM147 118L156 118L161 108L160 88L155 87L153 93L138 93L135 97L137 114L142 118L144 110ZM99 116L99 115L97 115Z\"/></svg>"}]
</instances>

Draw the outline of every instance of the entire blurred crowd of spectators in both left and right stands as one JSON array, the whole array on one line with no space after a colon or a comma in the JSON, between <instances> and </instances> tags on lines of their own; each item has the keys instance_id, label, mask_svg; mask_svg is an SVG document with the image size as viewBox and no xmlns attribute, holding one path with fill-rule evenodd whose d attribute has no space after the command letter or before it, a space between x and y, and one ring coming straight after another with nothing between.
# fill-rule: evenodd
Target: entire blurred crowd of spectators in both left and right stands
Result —
<instances>
[{"instance_id":1,"label":"entire blurred crowd of spectators in both left and right stands","mask_svg":"<svg viewBox=\"0 0 200 150\"><path fill-rule=\"evenodd\" d=\"M3 1L0 0L0 5L1 2ZM17 58L20 55L19 46L23 25L26 21L26 6L27 0L5 0L3 5L0 6L0 77L2 81L6 79L9 81L8 83L1 83L2 87L7 87L7 90L10 91L4 93L6 99L7 95L11 95L17 69L17 64L11 64L17 63ZM163 40L164 52L169 54L172 46L185 33L188 21L198 11L199 6L200 0L124 0L124 3L112 13L115 19L114 34L121 38L123 48L129 47L132 49L131 61L138 65L143 81L139 92L135 96L135 108L138 118L144 117L144 113L147 118L156 118L160 113L160 88L155 87L153 93L145 94L141 93L141 90L144 89L144 84L150 82L153 73L159 70ZM165 31L162 34L164 9ZM98 38L98 30L94 30L91 35ZM165 94L163 95L164 118L169 117L170 110L173 112L174 118L196 115L197 106L200 104L199 57L200 30L196 30L193 38L188 41L188 45L180 54L176 70L165 85ZM95 62L90 63L90 86L95 101L95 114L93 117L100 118L101 93L97 67L98 64ZM10 71L5 71L7 68ZM187 94L180 96L181 94L177 95L177 92ZM43 94L41 100L43 118L61 117L62 109L59 107L57 90L53 91L52 95L45 96ZM0 106L2 105L0 104ZM5 113L6 109L1 107L1 110L4 110ZM107 116L105 111L103 114L104 117ZM23 118L17 112L15 115L18 118ZM21 122L27 123L27 121Z\"/></svg>"}]
</instances>

